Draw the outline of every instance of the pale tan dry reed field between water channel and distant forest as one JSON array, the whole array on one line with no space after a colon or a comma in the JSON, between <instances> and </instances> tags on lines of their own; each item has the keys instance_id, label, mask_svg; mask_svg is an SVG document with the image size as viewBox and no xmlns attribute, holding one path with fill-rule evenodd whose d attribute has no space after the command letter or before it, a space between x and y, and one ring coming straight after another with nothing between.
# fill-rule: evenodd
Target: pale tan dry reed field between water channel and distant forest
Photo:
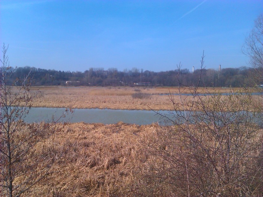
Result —
<instances>
[{"instance_id":1,"label":"pale tan dry reed field between water channel and distant forest","mask_svg":"<svg viewBox=\"0 0 263 197\"><path fill-rule=\"evenodd\" d=\"M33 101L33 107L73 107L99 109L146 109L172 110L168 95L178 93L177 87L171 88L129 88L129 87L31 87L31 92L40 91ZM229 88L200 88L202 92L228 92ZM182 93L190 93L189 88L181 89ZM138 98L136 93L150 96ZM189 96L182 96L189 99ZM179 96L174 96L179 102Z\"/></svg>"}]
</instances>

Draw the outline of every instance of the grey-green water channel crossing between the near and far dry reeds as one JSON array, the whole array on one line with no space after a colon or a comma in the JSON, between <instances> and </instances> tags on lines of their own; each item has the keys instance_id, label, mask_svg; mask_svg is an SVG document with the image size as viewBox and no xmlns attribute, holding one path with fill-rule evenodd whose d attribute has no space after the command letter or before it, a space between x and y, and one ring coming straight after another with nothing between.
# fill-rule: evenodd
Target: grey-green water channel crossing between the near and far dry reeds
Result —
<instances>
[{"instance_id":1,"label":"grey-green water channel crossing between the near and far dry reeds","mask_svg":"<svg viewBox=\"0 0 263 197\"><path fill-rule=\"evenodd\" d=\"M85 123L103 123L103 124L116 124L124 122L136 125L149 125L158 122L161 125L171 125L172 121L183 123L186 121L185 113L183 111L167 111L161 110L157 112L151 110L123 110L123 109L74 109L73 113L66 112L66 116L60 118L65 113L65 108L31 108L29 113L23 117L23 120L28 123L32 122L50 122L58 120L59 122L85 122ZM172 114L173 113L173 114ZM166 116L166 117L163 117ZM208 117L208 115L210 117ZM262 113L253 115L253 113L240 112L223 112L206 114L203 112L191 112L190 123L196 122L209 122L210 118L215 115L218 124L222 123L221 115L229 121L239 120L241 122L253 122L262 125ZM167 121L168 118L170 121ZM172 120L172 121L171 121Z\"/></svg>"}]
</instances>

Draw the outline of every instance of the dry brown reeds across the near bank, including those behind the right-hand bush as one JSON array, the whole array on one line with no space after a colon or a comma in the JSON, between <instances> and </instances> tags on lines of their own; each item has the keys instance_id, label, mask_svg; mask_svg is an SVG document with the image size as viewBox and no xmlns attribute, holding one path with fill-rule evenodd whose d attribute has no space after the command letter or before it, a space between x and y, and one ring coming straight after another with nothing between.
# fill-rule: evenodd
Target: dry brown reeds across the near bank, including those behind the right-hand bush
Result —
<instances>
[{"instance_id":1,"label":"dry brown reeds across the near bank, including those behind the right-hand bush","mask_svg":"<svg viewBox=\"0 0 263 197\"><path fill-rule=\"evenodd\" d=\"M21 131L27 131L30 126L32 127L23 123ZM203 126L205 129L205 125ZM219 184L217 186L220 187L220 178L206 171L212 172L213 165L209 163L211 160L200 152L201 149L194 148L188 137L181 135L182 128L177 126L161 127L157 124L138 126L119 122L113 125L58 123L56 127L58 130L56 135L38 143L27 155L29 164L41 161L39 158L47 158L52 159L53 165L48 176L31 187L23 196L188 196L187 184L190 185L193 194L198 190L195 186L202 185L201 177L207 181L213 180L204 186ZM213 161L218 165L217 162L220 160L217 160L214 152L216 150L213 149L217 142L211 140L212 136L207 132L209 128L204 130L209 135L199 133L195 125L190 126L190 129L196 136L201 137L202 143L206 142L204 143L206 148L212 147L209 151L215 158ZM260 133L262 134L262 130L250 141L262 141ZM254 154L262 156L260 150L251 149L251 155L247 155L246 158L254 157ZM189 156L189 159L184 160L186 156ZM203 160L198 160L201 158ZM252 159L239 162L242 164L244 175L248 175L245 170L253 171L253 166L262 165L262 158L261 160L260 157L257 158L256 162ZM205 169L199 166L200 162L205 164ZM45 159L38 163L38 166L43 165ZM245 165L251 168L245 168ZM217 167L223 172L223 168ZM189 183L185 176L186 170L189 174ZM253 173L261 173L254 171ZM199 177L194 175L196 172ZM253 175L255 179L260 174ZM15 183L19 181L15 179ZM253 183L257 187L255 194L260 195L260 188L256 185L259 182Z\"/></svg>"}]
</instances>

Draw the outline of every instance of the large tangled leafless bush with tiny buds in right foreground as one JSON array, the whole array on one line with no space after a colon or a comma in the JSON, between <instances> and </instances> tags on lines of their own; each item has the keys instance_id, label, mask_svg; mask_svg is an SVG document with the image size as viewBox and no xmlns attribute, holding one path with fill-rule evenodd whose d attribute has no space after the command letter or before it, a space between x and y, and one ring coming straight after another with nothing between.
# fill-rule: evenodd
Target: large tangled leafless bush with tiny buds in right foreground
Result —
<instances>
[{"instance_id":1,"label":"large tangled leafless bush with tiny buds in right foreground","mask_svg":"<svg viewBox=\"0 0 263 197\"><path fill-rule=\"evenodd\" d=\"M204 56L201 73L203 64ZM133 188L136 195L262 195L260 105L255 107L255 98L248 89L232 90L226 95L200 93L200 79L196 87L179 83L179 100L170 93L174 110L159 113L169 125L157 126L153 136L144 142L151 159ZM191 96L183 95L185 89Z\"/></svg>"}]
</instances>

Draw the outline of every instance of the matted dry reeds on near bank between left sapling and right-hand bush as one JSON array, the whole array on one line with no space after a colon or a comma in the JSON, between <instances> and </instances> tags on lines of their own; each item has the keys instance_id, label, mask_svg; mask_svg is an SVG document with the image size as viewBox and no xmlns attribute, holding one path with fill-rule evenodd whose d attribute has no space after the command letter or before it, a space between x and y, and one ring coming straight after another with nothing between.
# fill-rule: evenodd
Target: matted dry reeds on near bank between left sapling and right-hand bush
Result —
<instances>
[{"instance_id":1,"label":"matted dry reeds on near bank between left sapling and right-hand bush","mask_svg":"<svg viewBox=\"0 0 263 197\"><path fill-rule=\"evenodd\" d=\"M140 139L149 137L155 126L58 124L63 129L31 154L57 159L47 178L25 196L130 195L133 170L147 157L139 148Z\"/></svg>"}]
</instances>

